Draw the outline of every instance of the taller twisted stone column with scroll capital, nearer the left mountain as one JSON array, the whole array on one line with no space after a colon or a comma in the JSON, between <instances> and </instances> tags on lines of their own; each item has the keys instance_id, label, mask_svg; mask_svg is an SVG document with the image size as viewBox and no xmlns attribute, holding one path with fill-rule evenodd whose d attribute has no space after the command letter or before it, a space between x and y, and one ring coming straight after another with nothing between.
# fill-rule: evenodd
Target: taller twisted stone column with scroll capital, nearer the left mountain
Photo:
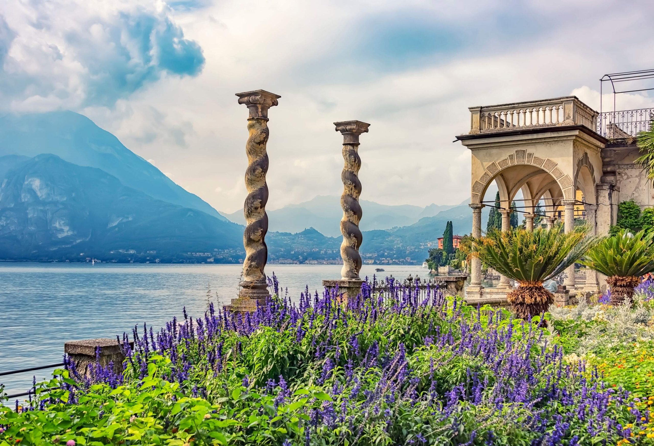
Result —
<instances>
[{"instance_id":1,"label":"taller twisted stone column with scroll capital, nearer the left mountain","mask_svg":"<svg viewBox=\"0 0 654 446\"><path fill-rule=\"evenodd\" d=\"M245 91L236 93L239 104L245 104L250 116L247 121L249 137L245 144L248 167L245 170L245 187L248 195L243 205L245 214L245 231L243 231L243 246L245 261L243 261L243 281L239 298L232 299L228 308L232 311L254 311L257 304L263 304L269 298L264 268L268 259L266 232L268 231L268 216L266 202L268 201L268 186L266 172L268 171L268 108L277 105L281 96L265 90Z\"/></svg>"}]
</instances>

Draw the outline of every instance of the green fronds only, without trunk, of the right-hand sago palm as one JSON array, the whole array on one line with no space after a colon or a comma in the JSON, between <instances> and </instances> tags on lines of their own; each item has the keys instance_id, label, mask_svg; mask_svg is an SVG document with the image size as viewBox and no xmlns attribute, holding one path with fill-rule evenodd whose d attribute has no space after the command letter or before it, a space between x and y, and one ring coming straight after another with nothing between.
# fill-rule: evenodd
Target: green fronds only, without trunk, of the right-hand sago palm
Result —
<instances>
[{"instance_id":1,"label":"green fronds only, without trunk, of the right-hand sago palm","mask_svg":"<svg viewBox=\"0 0 654 446\"><path fill-rule=\"evenodd\" d=\"M627 229L620 229L602 240L586 253L581 263L609 277L640 277L654 271L654 232L628 234Z\"/></svg>"}]
</instances>

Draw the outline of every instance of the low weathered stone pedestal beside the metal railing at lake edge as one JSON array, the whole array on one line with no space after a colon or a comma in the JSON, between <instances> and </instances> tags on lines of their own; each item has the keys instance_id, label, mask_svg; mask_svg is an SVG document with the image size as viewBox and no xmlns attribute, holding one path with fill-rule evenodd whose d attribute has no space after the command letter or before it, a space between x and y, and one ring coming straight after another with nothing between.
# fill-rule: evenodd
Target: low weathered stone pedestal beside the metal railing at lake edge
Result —
<instances>
[{"instance_id":1,"label":"low weathered stone pedestal beside the metal railing at lake edge","mask_svg":"<svg viewBox=\"0 0 654 446\"><path fill-rule=\"evenodd\" d=\"M133 342L129 343L134 346ZM75 363L75 370L82 376L90 375L90 364L96 363L97 350L99 349L99 364L103 367L114 364L114 372L121 373L125 355L121 351L121 345L116 339L99 338L86 339L81 341L69 341L63 344L63 353Z\"/></svg>"}]
</instances>

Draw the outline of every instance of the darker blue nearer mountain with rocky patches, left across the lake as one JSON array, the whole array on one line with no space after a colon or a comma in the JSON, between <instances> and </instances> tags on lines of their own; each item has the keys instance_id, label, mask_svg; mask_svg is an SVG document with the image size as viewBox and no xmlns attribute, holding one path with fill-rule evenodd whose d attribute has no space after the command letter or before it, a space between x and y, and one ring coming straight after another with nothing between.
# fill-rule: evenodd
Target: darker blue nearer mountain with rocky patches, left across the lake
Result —
<instances>
[{"instance_id":1,"label":"darker blue nearer mountain with rocky patches, left across the lake","mask_svg":"<svg viewBox=\"0 0 654 446\"><path fill-rule=\"evenodd\" d=\"M2 259L242 249L241 226L154 199L98 168L9 155L0 172Z\"/></svg>"}]
</instances>

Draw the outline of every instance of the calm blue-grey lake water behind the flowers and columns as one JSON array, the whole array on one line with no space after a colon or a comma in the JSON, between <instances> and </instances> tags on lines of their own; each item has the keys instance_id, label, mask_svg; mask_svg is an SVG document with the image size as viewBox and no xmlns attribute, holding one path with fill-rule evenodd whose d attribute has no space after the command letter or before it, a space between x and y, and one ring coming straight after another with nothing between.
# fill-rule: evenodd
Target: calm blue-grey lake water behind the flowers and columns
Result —
<instances>
[{"instance_id":1,"label":"calm blue-grey lake water behind the flowers and columns","mask_svg":"<svg viewBox=\"0 0 654 446\"><path fill-rule=\"evenodd\" d=\"M361 276L375 267L364 265ZM384 266L377 273L404 279L426 277L420 266ZM299 298L305 285L322 291L322 279L340 277L340 265L268 265L282 288ZM199 317L213 301L227 304L238 291L241 265L0 264L0 372L61 362L69 340L114 338L143 323L154 328L182 315ZM216 293L218 296L216 297ZM26 391L52 370L0 376L7 393Z\"/></svg>"}]
</instances>

